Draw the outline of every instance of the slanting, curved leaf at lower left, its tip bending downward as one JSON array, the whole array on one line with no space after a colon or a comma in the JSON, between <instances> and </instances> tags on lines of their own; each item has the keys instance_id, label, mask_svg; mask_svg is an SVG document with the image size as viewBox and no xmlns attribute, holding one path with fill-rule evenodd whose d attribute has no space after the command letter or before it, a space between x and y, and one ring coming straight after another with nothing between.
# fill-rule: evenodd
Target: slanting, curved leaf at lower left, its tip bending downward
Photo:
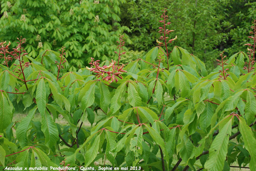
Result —
<instances>
[{"instance_id":1,"label":"slanting, curved leaf at lower left, its tip bending downward","mask_svg":"<svg viewBox=\"0 0 256 171\"><path fill-rule=\"evenodd\" d=\"M22 119L22 121L20 122L20 124L16 129L16 136L18 141L20 142L21 147L25 147L28 144L27 131L36 113L36 109L37 109L37 106L31 109L28 115L24 119Z\"/></svg>"}]
</instances>

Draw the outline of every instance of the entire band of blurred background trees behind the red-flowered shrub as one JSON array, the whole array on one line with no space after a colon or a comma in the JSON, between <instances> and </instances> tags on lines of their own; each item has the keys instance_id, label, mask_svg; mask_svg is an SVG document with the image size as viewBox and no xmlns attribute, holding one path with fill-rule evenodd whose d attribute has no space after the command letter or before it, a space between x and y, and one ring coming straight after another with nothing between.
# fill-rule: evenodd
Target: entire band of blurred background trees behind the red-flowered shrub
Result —
<instances>
[{"instance_id":1,"label":"entire band of blurred background trees behind the red-flowered shrub","mask_svg":"<svg viewBox=\"0 0 256 171\"><path fill-rule=\"evenodd\" d=\"M255 0L1 0L0 41L14 48L22 36L32 57L66 46L69 70L76 71L90 57L117 59L116 41L124 34L125 64L157 46L164 8L172 23L168 29L175 30L170 36L178 36L169 48L187 49L208 71L223 50L228 56L247 52L243 45L256 19Z\"/></svg>"}]
</instances>

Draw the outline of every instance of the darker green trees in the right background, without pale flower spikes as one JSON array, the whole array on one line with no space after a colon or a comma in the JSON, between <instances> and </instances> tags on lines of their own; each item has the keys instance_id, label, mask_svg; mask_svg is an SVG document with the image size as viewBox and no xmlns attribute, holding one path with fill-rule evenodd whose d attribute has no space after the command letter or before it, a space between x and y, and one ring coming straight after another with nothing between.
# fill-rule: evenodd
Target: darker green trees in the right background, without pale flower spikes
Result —
<instances>
[{"instance_id":1,"label":"darker green trees in the right background, without pale flower spikes","mask_svg":"<svg viewBox=\"0 0 256 171\"><path fill-rule=\"evenodd\" d=\"M232 56L238 51L246 51L248 42L244 36L249 31L251 21L256 17L255 2L244 0L128 0L121 7L126 11L121 16L121 24L128 26L133 50L148 51L156 46L159 39L158 10L168 9L172 29L171 37L178 40L170 46L181 46L198 56L212 71L216 67L215 56L225 50Z\"/></svg>"}]
</instances>

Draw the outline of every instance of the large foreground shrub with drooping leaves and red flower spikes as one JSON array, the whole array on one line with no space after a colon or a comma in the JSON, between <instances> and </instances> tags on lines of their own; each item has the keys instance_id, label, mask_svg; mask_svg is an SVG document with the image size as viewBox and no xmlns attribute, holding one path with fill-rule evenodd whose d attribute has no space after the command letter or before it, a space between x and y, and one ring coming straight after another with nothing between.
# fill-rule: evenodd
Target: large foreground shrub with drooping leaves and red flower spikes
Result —
<instances>
[{"instance_id":1,"label":"large foreground shrub with drooping leaves and red flower spikes","mask_svg":"<svg viewBox=\"0 0 256 171\"><path fill-rule=\"evenodd\" d=\"M166 33L170 28L164 26ZM64 47L60 54L44 50L34 59L22 48L24 39L12 52L2 42L0 169L64 165L228 171L237 162L255 170L252 28L248 54L221 54L210 74L184 48L170 50L160 41L164 48L156 46L125 66L119 65L120 58L101 63L91 58L90 68L77 72L66 72ZM12 101L33 107L20 122L12 122ZM33 121L37 112L42 121ZM59 115L68 125L55 122ZM89 129L82 127L87 121Z\"/></svg>"}]
</instances>

